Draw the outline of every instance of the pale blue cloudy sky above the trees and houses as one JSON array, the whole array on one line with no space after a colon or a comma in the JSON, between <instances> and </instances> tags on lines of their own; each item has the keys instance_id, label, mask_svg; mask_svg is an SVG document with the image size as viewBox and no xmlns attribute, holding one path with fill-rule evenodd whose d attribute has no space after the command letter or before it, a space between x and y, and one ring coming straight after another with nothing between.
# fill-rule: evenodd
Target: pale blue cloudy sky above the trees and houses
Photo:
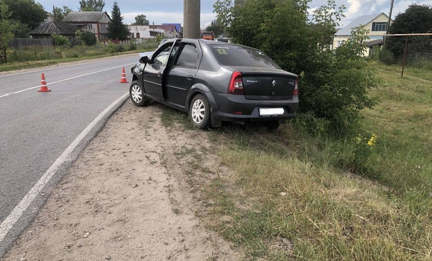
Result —
<instances>
[{"instance_id":1,"label":"pale blue cloudy sky above the trees and houses","mask_svg":"<svg viewBox=\"0 0 432 261\"><path fill-rule=\"evenodd\" d=\"M53 6L69 6L72 10L80 8L79 0L35 0L44 6L45 10L51 12ZM213 3L216 0L201 0L201 27L207 26L215 19ZM264 1L264 0L263 0ZM183 24L183 0L117 0L124 23L134 22L138 14L145 14L150 23L182 23ZM327 0L312 0L309 8L315 10L325 5ZM350 21L366 14L390 12L391 0L336 0L337 6L344 5L345 18L341 21L341 27L348 25ZM399 12L404 12L411 3L427 4L432 6L432 0L395 0L393 7L393 18ZM111 14L114 0L105 0L105 11Z\"/></svg>"}]
</instances>

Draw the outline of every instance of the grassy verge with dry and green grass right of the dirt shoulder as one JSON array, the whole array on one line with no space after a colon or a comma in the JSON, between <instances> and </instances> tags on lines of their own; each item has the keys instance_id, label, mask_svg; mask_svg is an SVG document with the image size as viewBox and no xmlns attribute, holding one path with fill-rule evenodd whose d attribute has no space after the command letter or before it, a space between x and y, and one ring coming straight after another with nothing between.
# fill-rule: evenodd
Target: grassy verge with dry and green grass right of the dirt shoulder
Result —
<instances>
[{"instance_id":1,"label":"grassy verge with dry and green grass right of the dirt shoulder","mask_svg":"<svg viewBox=\"0 0 432 261\"><path fill-rule=\"evenodd\" d=\"M311 135L294 121L273 133L210 131L231 173L188 170L203 173L195 183L206 224L250 260L431 260L432 84L379 68L371 95L380 104L347 137ZM169 108L162 119L190 128Z\"/></svg>"}]
</instances>

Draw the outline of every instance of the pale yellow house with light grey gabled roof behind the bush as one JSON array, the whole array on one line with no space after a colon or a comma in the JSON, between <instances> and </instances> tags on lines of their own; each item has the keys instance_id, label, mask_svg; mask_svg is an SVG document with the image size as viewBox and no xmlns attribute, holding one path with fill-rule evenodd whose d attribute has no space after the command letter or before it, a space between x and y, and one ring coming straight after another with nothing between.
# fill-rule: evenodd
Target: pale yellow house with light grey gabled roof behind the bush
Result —
<instances>
[{"instance_id":1,"label":"pale yellow house with light grey gabled roof behind the bush","mask_svg":"<svg viewBox=\"0 0 432 261\"><path fill-rule=\"evenodd\" d=\"M351 30L361 26L362 29L369 30L366 46L369 48L364 52L364 56L369 56L373 46L381 46L384 40L384 35L388 28L388 15L381 12L379 14L369 14L359 17L334 34L332 49L341 46L345 41L350 39Z\"/></svg>"}]
</instances>

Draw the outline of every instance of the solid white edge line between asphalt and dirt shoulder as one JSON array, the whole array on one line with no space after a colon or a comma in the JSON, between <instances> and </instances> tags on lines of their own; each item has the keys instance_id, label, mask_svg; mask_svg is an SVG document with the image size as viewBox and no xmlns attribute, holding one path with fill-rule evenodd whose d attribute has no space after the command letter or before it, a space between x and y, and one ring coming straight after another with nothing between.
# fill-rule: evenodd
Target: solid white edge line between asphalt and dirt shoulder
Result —
<instances>
[{"instance_id":1,"label":"solid white edge line between asphalt and dirt shoulder","mask_svg":"<svg viewBox=\"0 0 432 261\"><path fill-rule=\"evenodd\" d=\"M24 196L24 198L15 206L15 209L8 215L8 217L3 220L3 222L0 224L0 242L3 241L3 239L6 237L6 235L9 233L10 229L15 225L15 223L21 218L21 215L26 211L28 206L35 200L35 197L44 189L46 184L51 180L51 177L55 175L57 170L62 166L62 164L71 158L71 153L75 150L75 148L80 144L82 139L89 134L91 129L100 122L100 119L102 119L111 108L116 106L120 101L125 99L129 95L129 92L122 95L120 98L116 99L111 105L109 105L105 110L96 117L96 119L93 119L93 122L91 122L86 128L84 128L84 131L76 137L76 139L69 145L69 147L66 148L66 150L60 155L60 157L55 160L53 165L51 165L50 168L48 168L48 171L42 175L42 177L36 182L36 184L33 186L30 191Z\"/></svg>"}]
</instances>

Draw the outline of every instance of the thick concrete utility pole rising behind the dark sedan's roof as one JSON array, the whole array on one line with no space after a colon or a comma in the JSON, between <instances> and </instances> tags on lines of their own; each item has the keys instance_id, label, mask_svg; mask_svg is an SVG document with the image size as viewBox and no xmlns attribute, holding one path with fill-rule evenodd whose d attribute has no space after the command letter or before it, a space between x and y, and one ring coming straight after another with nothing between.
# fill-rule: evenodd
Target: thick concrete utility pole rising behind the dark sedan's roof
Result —
<instances>
[{"instance_id":1,"label":"thick concrete utility pole rising behind the dark sedan's roof","mask_svg":"<svg viewBox=\"0 0 432 261\"><path fill-rule=\"evenodd\" d=\"M184 0L183 6L183 37L200 37L201 0Z\"/></svg>"}]
</instances>

